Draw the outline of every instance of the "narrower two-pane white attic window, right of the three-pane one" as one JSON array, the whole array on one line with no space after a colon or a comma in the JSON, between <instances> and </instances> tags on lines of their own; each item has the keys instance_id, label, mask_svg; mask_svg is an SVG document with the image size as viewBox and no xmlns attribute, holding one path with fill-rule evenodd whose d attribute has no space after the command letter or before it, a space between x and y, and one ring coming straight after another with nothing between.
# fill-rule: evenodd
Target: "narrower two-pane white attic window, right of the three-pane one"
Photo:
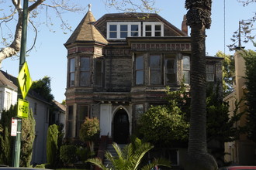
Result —
<instances>
[{"instance_id":1,"label":"narrower two-pane white attic window, right of the three-pane one","mask_svg":"<svg viewBox=\"0 0 256 170\"><path fill-rule=\"evenodd\" d=\"M164 24L162 22L144 22L143 36L164 36Z\"/></svg>"}]
</instances>

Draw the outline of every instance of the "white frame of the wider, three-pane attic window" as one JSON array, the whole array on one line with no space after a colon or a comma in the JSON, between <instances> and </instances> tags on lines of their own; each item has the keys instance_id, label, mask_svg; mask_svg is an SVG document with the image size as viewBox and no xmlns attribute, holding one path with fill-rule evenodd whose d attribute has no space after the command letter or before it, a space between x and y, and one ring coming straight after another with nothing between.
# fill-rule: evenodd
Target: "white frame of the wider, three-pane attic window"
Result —
<instances>
[{"instance_id":1,"label":"white frame of the wider, three-pane attic window","mask_svg":"<svg viewBox=\"0 0 256 170\"><path fill-rule=\"evenodd\" d=\"M116 35L116 38L110 38L109 36L110 36L110 34L109 34L109 32L110 32L110 25L116 25L116 32L117 32L117 35ZM131 30L131 26L132 25L137 25L138 26L138 36L141 36L141 30L140 30L140 28L141 28L141 24L140 24L140 22L107 22L107 39L126 39L126 38L120 38L120 36L121 36L121 34L120 34L120 32L121 32L121 30L120 30L120 26L121 25L127 25L128 26L128 34L127 34L127 37L131 37L131 32L132 32L132 30ZM137 36L136 36L137 37Z\"/></svg>"}]
</instances>

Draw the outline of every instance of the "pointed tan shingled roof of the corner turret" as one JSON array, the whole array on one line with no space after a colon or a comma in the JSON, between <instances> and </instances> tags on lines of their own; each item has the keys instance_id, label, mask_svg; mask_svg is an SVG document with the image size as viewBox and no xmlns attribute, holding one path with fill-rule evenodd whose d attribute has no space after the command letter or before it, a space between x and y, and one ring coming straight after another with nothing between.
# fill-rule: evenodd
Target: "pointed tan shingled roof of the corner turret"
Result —
<instances>
[{"instance_id":1,"label":"pointed tan shingled roof of the corner turret","mask_svg":"<svg viewBox=\"0 0 256 170\"><path fill-rule=\"evenodd\" d=\"M95 18L92 15L92 12L89 10L70 38L67 39L65 45L73 42L102 42L107 44L108 41L104 38L104 36L102 36L98 29L93 26L94 22Z\"/></svg>"}]
</instances>

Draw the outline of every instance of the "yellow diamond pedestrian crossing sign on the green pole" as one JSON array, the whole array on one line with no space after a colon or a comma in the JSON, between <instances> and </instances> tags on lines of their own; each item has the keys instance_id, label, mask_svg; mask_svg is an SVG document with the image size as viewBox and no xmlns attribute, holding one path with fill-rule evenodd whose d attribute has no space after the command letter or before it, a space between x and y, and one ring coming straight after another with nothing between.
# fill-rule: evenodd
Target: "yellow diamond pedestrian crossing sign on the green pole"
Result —
<instances>
[{"instance_id":1,"label":"yellow diamond pedestrian crossing sign on the green pole","mask_svg":"<svg viewBox=\"0 0 256 170\"><path fill-rule=\"evenodd\" d=\"M25 99L26 94L29 92L29 88L32 85L32 80L29 75L29 67L26 62L23 64L22 69L19 71L18 81L22 97Z\"/></svg>"}]
</instances>

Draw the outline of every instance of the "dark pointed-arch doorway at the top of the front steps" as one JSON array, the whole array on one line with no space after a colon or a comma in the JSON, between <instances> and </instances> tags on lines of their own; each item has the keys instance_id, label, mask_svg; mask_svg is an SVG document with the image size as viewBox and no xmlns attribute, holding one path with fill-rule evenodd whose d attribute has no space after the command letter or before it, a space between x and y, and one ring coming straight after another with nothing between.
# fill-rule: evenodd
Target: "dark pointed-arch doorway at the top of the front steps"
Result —
<instances>
[{"instance_id":1,"label":"dark pointed-arch doorway at the top of the front steps","mask_svg":"<svg viewBox=\"0 0 256 170\"><path fill-rule=\"evenodd\" d=\"M120 107L114 116L113 141L117 144L127 144L130 135L129 126L128 114Z\"/></svg>"}]
</instances>

